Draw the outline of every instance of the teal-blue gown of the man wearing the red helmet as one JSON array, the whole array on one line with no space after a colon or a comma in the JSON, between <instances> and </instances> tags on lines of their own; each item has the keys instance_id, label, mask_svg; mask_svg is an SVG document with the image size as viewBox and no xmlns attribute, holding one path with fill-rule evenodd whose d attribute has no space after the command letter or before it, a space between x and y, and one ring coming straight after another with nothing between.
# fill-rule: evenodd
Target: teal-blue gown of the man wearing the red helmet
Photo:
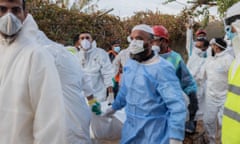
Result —
<instances>
[{"instance_id":1,"label":"teal-blue gown of the man wearing the red helmet","mask_svg":"<svg viewBox=\"0 0 240 144\"><path fill-rule=\"evenodd\" d=\"M173 64L181 87L186 95L197 92L197 84L180 54L171 50L168 53L160 54L161 57Z\"/></svg>"}]
</instances>

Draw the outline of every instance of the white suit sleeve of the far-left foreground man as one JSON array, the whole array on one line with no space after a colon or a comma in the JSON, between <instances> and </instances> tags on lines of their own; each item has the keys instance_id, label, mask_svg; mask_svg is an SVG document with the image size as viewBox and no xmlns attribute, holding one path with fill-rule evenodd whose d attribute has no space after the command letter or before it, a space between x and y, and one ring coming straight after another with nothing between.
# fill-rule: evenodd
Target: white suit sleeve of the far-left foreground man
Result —
<instances>
[{"instance_id":1,"label":"white suit sleeve of the far-left foreground man","mask_svg":"<svg viewBox=\"0 0 240 144\"><path fill-rule=\"evenodd\" d=\"M53 58L38 48L32 55L29 94L36 144L65 144L65 112L59 75Z\"/></svg>"}]
</instances>

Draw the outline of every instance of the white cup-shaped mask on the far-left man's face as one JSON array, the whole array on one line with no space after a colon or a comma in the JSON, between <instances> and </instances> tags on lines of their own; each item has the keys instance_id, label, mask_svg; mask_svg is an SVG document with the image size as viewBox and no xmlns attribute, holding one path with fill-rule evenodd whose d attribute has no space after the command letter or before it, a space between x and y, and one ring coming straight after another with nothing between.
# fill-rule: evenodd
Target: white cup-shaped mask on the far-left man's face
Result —
<instances>
[{"instance_id":1,"label":"white cup-shaped mask on the far-left man's face","mask_svg":"<svg viewBox=\"0 0 240 144\"><path fill-rule=\"evenodd\" d=\"M17 34L21 28L21 20L12 13L7 13L0 18L0 32L7 36Z\"/></svg>"}]
</instances>

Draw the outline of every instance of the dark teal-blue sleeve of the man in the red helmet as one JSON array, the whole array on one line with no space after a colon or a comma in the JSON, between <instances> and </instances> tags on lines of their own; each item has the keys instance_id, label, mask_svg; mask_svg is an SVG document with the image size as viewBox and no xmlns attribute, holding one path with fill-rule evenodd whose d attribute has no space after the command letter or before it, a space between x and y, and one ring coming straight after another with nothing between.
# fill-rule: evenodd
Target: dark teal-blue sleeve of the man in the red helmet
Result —
<instances>
[{"instance_id":1,"label":"dark teal-blue sleeve of the man in the red helmet","mask_svg":"<svg viewBox=\"0 0 240 144\"><path fill-rule=\"evenodd\" d=\"M183 60L179 62L178 67L176 69L176 74L180 80L181 87L183 91L186 93L186 95L197 92L196 81L194 80L193 76L190 74Z\"/></svg>"}]
</instances>

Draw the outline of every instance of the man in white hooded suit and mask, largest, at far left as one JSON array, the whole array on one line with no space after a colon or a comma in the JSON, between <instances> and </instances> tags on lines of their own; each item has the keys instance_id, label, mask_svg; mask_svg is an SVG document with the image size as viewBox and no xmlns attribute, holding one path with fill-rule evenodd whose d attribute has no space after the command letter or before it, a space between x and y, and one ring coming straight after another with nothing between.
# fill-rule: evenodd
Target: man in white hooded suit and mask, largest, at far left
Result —
<instances>
[{"instance_id":1,"label":"man in white hooded suit and mask, largest, at far left","mask_svg":"<svg viewBox=\"0 0 240 144\"><path fill-rule=\"evenodd\" d=\"M0 143L65 144L54 59L25 35L25 2L0 0Z\"/></svg>"}]
</instances>

